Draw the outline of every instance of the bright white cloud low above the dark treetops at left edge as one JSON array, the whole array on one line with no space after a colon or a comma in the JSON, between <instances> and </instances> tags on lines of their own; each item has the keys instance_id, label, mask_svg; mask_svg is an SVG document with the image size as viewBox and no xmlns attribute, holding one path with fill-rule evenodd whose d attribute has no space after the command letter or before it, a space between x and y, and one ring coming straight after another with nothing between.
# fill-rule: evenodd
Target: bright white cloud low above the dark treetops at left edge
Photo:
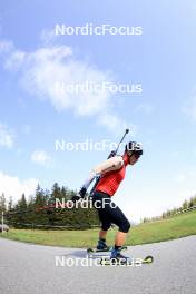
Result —
<instances>
[{"instance_id":1,"label":"bright white cloud low above the dark treetops at left edge","mask_svg":"<svg viewBox=\"0 0 196 294\"><path fill-rule=\"evenodd\" d=\"M27 197L33 195L37 185L38 180L36 178L20 180L18 177L9 176L0 171L0 194L4 193L7 199L12 196L13 202L17 202L22 193Z\"/></svg>"}]
</instances>

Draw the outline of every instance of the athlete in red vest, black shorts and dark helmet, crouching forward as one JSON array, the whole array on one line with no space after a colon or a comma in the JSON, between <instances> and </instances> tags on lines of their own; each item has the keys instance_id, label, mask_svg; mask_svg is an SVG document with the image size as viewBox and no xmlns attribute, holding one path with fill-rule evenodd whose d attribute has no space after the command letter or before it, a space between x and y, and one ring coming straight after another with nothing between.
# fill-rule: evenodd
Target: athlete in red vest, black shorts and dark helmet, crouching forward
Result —
<instances>
[{"instance_id":1,"label":"athlete in red vest, black shorts and dark helmet, crouching forward","mask_svg":"<svg viewBox=\"0 0 196 294\"><path fill-rule=\"evenodd\" d=\"M108 248L106 236L111 224L117 225L119 228L115 237L115 246L112 247L110 258L126 258L121 255L120 249L125 244L126 235L130 228L129 220L120 208L111 202L111 197L115 195L120 183L125 178L127 166L135 165L141 155L143 149L140 144L135 141L128 143L122 156L114 156L95 167L79 192L79 195L85 197L91 182L97 176L100 176L91 195L94 206L98 210L99 219L101 222L97 249L101 251Z\"/></svg>"}]
</instances>

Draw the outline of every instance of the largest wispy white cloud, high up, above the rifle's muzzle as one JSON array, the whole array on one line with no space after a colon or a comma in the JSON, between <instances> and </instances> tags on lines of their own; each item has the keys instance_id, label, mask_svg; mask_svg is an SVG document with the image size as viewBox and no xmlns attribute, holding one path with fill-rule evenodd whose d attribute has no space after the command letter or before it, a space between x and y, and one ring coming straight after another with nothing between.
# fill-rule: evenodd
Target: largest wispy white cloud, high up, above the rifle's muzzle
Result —
<instances>
[{"instance_id":1,"label":"largest wispy white cloud, high up, above the rifle's muzzle","mask_svg":"<svg viewBox=\"0 0 196 294\"><path fill-rule=\"evenodd\" d=\"M117 125L126 125L112 109L109 89L86 92L81 89L78 92L57 90L57 82L60 85L85 85L86 81L94 85L115 82L109 71L99 70L89 62L78 60L70 47L40 47L32 52L14 49L8 55L4 67L11 71L19 70L22 87L31 95L49 100L58 111L70 109L76 116L94 116L98 124L100 121L100 125L115 133Z\"/></svg>"}]
</instances>

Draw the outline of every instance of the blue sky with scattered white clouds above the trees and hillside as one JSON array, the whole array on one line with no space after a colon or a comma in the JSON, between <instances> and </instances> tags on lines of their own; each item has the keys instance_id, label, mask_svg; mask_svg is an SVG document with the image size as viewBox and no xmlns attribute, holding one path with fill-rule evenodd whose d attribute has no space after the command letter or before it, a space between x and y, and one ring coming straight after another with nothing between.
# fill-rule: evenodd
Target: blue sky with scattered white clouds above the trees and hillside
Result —
<instances>
[{"instance_id":1,"label":"blue sky with scattered white clouds above the trees and hillside","mask_svg":"<svg viewBox=\"0 0 196 294\"><path fill-rule=\"evenodd\" d=\"M39 182L78 189L101 151L57 151L56 140L143 143L117 204L138 220L195 194L194 1L0 3L0 193L17 199ZM141 36L55 36L55 26L141 27ZM63 95L56 81L141 85L141 94Z\"/></svg>"}]
</instances>

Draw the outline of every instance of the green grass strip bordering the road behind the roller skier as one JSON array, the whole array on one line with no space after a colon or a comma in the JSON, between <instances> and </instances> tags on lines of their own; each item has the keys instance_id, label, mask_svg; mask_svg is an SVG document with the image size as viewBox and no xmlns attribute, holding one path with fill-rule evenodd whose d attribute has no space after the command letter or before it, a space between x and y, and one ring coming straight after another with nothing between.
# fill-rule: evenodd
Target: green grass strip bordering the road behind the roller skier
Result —
<instances>
[{"instance_id":1,"label":"green grass strip bordering the road behind the roller skier","mask_svg":"<svg viewBox=\"0 0 196 294\"><path fill-rule=\"evenodd\" d=\"M62 247L91 247L96 245L99 229L39 231L10 229L1 237L41 245ZM116 229L108 233L108 244L114 243ZM130 229L126 245L147 244L196 235L196 212L171 218L140 224Z\"/></svg>"}]
</instances>

